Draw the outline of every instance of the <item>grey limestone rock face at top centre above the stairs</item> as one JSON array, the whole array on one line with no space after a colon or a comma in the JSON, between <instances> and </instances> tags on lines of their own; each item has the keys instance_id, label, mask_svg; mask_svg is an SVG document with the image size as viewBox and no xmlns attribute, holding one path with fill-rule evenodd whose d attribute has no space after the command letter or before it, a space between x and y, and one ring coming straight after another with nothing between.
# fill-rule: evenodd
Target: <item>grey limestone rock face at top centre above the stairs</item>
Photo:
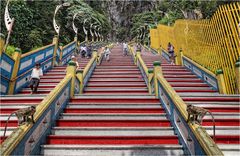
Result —
<instances>
[{"instance_id":1,"label":"grey limestone rock face at top centre above the stairs","mask_svg":"<svg viewBox=\"0 0 240 156\"><path fill-rule=\"evenodd\" d=\"M91 1L86 0L90 6ZM110 40L130 39L131 18L136 13L150 11L155 8L156 1L142 0L111 0L100 1L98 7L108 16L112 26L112 31L109 34Z\"/></svg>"}]
</instances>

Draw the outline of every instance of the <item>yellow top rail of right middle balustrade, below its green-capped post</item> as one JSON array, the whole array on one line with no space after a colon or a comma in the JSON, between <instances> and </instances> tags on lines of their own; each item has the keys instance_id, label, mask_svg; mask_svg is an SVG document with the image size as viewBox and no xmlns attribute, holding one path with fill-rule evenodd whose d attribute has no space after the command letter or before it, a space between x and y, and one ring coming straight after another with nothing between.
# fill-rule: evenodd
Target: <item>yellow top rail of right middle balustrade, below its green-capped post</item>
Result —
<instances>
[{"instance_id":1,"label":"yellow top rail of right middle balustrade, below its green-capped post","mask_svg":"<svg viewBox=\"0 0 240 156\"><path fill-rule=\"evenodd\" d=\"M187 121L187 105L182 100L182 98L175 92L175 90L171 87L171 85L166 81L163 75L160 72L156 73L157 80L161 83L165 91L169 94L170 98L173 101L175 107L181 113L181 116ZM196 136L200 145L206 152L206 155L223 155L222 151L219 149L217 144L212 140L212 138L208 135L206 130L197 124L188 124L191 128L193 134Z\"/></svg>"}]
</instances>

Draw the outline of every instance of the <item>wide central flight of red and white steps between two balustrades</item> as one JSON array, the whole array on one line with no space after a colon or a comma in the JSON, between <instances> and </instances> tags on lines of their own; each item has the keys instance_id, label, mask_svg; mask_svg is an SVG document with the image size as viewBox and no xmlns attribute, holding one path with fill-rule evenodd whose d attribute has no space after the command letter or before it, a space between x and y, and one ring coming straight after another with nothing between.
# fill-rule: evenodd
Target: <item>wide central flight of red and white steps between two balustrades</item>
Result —
<instances>
[{"instance_id":1,"label":"wide central flight of red and white steps between two balustrades","mask_svg":"<svg viewBox=\"0 0 240 156\"><path fill-rule=\"evenodd\" d=\"M43 155L183 155L159 100L122 47L97 66L83 95L70 100Z\"/></svg>"}]
</instances>

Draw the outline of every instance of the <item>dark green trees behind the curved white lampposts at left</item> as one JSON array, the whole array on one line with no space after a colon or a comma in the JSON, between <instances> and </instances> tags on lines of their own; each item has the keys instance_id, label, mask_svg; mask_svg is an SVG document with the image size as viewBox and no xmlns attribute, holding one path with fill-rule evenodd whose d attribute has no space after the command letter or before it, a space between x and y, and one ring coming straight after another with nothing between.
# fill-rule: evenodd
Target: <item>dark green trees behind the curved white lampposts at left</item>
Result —
<instances>
[{"instance_id":1,"label":"dark green trees behind the curved white lampposts at left","mask_svg":"<svg viewBox=\"0 0 240 156\"><path fill-rule=\"evenodd\" d=\"M11 33L9 44L22 49L23 53L32 49L50 44L54 37L53 16L57 5L64 1L51 0L17 0L10 1L9 13L10 17L15 19L13 32ZM75 25L79 28L78 38L84 40L82 23L86 16L95 17L103 26L103 33L107 34L110 26L107 18L93 10L83 0L69 0L71 6L61 8L57 15L56 21L60 25L59 41L63 45L73 40L75 33L72 28L72 18L76 12L83 11L84 16L77 16ZM0 1L1 6L1 33L7 36L3 17L6 1ZM12 49L12 48L10 48Z\"/></svg>"}]
</instances>

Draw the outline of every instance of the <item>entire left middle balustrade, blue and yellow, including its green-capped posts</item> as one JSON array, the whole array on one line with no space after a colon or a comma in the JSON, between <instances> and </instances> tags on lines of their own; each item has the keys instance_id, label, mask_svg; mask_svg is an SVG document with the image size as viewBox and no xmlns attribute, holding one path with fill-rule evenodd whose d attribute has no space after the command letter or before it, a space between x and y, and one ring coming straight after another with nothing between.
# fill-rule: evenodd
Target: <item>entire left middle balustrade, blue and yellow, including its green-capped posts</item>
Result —
<instances>
[{"instance_id":1,"label":"entire left middle balustrade, blue and yellow, including its green-capped posts","mask_svg":"<svg viewBox=\"0 0 240 156\"><path fill-rule=\"evenodd\" d=\"M37 105L34 115L35 124L24 124L15 129L1 144L1 155L36 155L40 153L40 145L46 142L47 135L55 125L60 112L65 108L74 93L80 93L86 86L97 64L97 52L84 70L76 71L76 63L68 63L66 76ZM81 78L80 78L81 77Z\"/></svg>"}]
</instances>

